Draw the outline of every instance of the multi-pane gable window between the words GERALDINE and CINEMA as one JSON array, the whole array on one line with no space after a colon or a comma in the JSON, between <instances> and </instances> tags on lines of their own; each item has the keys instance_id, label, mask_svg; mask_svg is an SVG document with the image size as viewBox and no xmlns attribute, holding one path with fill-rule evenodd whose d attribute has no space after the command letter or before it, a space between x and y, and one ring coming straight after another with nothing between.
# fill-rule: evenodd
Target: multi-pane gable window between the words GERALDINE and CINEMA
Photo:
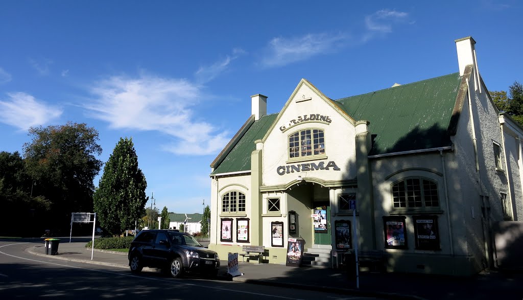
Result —
<instances>
[{"instance_id":1,"label":"multi-pane gable window between the words GERALDINE and CINEMA","mask_svg":"<svg viewBox=\"0 0 523 300\"><path fill-rule=\"evenodd\" d=\"M289 158L325 154L325 137L321 129L303 129L289 136Z\"/></svg>"}]
</instances>

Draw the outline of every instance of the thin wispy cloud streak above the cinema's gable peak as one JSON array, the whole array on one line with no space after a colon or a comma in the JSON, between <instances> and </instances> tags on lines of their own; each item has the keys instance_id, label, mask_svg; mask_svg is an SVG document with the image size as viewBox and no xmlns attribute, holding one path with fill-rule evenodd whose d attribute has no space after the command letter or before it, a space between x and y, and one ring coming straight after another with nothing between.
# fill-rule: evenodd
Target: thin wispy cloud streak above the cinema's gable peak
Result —
<instances>
[{"instance_id":1,"label":"thin wispy cloud streak above the cinema's gable peak","mask_svg":"<svg viewBox=\"0 0 523 300\"><path fill-rule=\"evenodd\" d=\"M314 55L336 51L347 39L345 35L308 34L293 38L270 40L268 55L261 61L265 67L282 66L302 61Z\"/></svg>"}]
</instances>

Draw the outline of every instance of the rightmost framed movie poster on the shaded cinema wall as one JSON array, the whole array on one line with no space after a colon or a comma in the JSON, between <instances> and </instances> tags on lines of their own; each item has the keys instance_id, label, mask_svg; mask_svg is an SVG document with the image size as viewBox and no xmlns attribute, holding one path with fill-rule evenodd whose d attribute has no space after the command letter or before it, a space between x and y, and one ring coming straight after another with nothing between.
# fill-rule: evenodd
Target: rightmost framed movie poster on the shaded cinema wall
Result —
<instances>
[{"instance_id":1,"label":"rightmost framed movie poster on the shaded cinema wall","mask_svg":"<svg viewBox=\"0 0 523 300\"><path fill-rule=\"evenodd\" d=\"M412 216L416 249L441 250L439 246L438 216Z\"/></svg>"}]
</instances>

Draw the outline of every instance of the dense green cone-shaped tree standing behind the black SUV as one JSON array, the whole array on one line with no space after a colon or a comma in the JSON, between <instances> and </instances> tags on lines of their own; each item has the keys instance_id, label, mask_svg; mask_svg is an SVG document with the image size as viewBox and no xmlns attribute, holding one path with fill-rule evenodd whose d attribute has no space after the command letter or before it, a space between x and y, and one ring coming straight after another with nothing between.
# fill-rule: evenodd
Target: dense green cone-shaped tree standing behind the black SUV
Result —
<instances>
[{"instance_id":1,"label":"dense green cone-shaped tree standing behind the black SUV","mask_svg":"<svg viewBox=\"0 0 523 300\"><path fill-rule=\"evenodd\" d=\"M112 235L134 227L149 199L146 187L132 138L120 138L94 193L94 211L100 225Z\"/></svg>"}]
</instances>

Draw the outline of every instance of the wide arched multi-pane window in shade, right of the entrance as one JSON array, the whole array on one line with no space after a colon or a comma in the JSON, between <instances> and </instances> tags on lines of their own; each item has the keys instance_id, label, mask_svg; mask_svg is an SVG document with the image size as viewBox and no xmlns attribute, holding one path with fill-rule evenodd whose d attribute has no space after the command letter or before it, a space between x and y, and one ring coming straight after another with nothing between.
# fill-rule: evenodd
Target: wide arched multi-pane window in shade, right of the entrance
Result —
<instances>
[{"instance_id":1,"label":"wide arched multi-pane window in shade, right of the entrance","mask_svg":"<svg viewBox=\"0 0 523 300\"><path fill-rule=\"evenodd\" d=\"M438 185L424 178L409 178L392 185L394 208L438 207Z\"/></svg>"}]
</instances>

